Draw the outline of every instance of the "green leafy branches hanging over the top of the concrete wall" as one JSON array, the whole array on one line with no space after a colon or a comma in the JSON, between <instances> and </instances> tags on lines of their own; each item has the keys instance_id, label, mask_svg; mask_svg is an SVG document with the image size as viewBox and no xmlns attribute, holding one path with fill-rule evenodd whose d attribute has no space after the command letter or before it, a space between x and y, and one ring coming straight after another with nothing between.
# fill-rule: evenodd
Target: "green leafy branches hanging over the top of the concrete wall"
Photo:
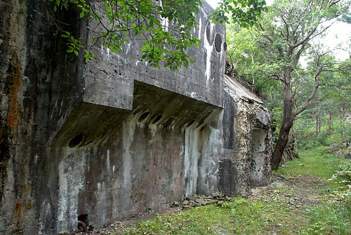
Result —
<instances>
[{"instance_id":1,"label":"green leafy branches hanging over the top of the concrete wall","mask_svg":"<svg viewBox=\"0 0 351 235\"><path fill-rule=\"evenodd\" d=\"M80 10L79 18L95 22L102 32L91 39L93 45L99 43L119 53L133 36L136 40L143 40L142 58L150 66L160 67L163 63L164 67L177 70L194 63L186 52L200 42L190 32L198 24L196 14L202 6L201 0L49 1L54 3L55 11L75 7ZM69 32L62 37L67 40L69 53L78 55L79 50L85 47L82 38L76 39ZM87 48L84 51L86 61L94 58L89 51Z\"/></svg>"}]
</instances>

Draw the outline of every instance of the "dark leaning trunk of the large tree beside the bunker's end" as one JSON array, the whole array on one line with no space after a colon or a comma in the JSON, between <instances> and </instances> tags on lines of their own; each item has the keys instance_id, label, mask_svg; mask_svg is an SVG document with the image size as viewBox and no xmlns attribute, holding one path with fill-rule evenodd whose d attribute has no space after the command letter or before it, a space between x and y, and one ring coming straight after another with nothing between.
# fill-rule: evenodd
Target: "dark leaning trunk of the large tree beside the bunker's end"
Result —
<instances>
[{"instance_id":1,"label":"dark leaning trunk of the large tree beside the bunker's end","mask_svg":"<svg viewBox=\"0 0 351 235\"><path fill-rule=\"evenodd\" d=\"M278 169L279 163L284 153L285 146L289 140L289 132L292 127L292 123L294 120L293 114L293 100L291 94L291 68L285 69L285 85L284 85L284 108L283 108L283 120L281 123L281 127L279 130L279 138L277 145L274 149L271 166L273 170Z\"/></svg>"}]
</instances>

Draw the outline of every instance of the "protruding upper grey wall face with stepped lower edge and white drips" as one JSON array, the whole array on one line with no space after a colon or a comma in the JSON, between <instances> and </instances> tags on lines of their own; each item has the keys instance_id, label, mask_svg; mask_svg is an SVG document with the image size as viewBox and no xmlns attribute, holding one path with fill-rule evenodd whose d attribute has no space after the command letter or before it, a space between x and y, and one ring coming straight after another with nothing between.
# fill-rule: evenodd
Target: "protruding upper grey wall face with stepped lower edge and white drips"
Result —
<instances>
[{"instance_id":1,"label":"protruding upper grey wall face with stepped lower edge and white drips","mask_svg":"<svg viewBox=\"0 0 351 235\"><path fill-rule=\"evenodd\" d=\"M199 25L192 31L193 36L201 40L200 49L192 47L187 51L194 64L180 71L170 71L162 65L160 68L148 66L147 61L141 59L139 50L143 38L131 38L118 55L96 46L92 52L97 57L86 66L84 102L131 109L135 80L223 107L225 29L223 25L211 23L212 8L205 1L203 6L197 16ZM99 35L99 27L96 29L96 25L90 23L87 37ZM220 39L218 48L215 46L216 37Z\"/></svg>"}]
</instances>

